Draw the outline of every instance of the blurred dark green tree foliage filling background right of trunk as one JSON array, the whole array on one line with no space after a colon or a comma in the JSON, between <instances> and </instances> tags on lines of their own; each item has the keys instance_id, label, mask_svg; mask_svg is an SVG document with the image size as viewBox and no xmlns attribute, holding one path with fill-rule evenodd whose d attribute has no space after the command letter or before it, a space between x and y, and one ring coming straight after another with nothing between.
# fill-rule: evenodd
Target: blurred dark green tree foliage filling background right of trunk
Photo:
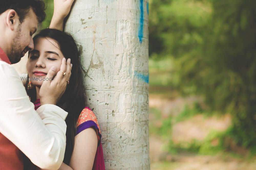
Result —
<instances>
[{"instance_id":1,"label":"blurred dark green tree foliage filling background right of trunk","mask_svg":"<svg viewBox=\"0 0 256 170\"><path fill-rule=\"evenodd\" d=\"M173 62L168 85L183 95L204 96L212 110L231 113L229 135L252 150L256 148L255 6L252 0L152 0L149 18L150 56Z\"/></svg>"}]
</instances>

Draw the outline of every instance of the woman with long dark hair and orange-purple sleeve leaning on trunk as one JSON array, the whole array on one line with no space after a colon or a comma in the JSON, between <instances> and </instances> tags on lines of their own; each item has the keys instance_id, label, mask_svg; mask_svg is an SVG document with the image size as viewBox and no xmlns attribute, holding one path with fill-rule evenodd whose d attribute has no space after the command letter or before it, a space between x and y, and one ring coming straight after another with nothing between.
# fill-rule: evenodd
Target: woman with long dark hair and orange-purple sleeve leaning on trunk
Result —
<instances>
[{"instance_id":1,"label":"woman with long dark hair and orange-purple sleeve leaning on trunk","mask_svg":"<svg viewBox=\"0 0 256 170\"><path fill-rule=\"evenodd\" d=\"M94 113L85 105L82 68L77 45L71 35L56 29L41 30L29 52L27 94L40 106L39 90L52 66L60 70L63 58L72 61L72 75L57 106L67 111L66 151L60 169L105 169L100 127ZM65 70L63 70L63 73ZM55 75L57 72L55 73ZM65 74L65 73L64 73ZM30 81L29 81L30 80ZM28 164L25 164L28 165ZM29 165L28 169L33 169Z\"/></svg>"}]
</instances>

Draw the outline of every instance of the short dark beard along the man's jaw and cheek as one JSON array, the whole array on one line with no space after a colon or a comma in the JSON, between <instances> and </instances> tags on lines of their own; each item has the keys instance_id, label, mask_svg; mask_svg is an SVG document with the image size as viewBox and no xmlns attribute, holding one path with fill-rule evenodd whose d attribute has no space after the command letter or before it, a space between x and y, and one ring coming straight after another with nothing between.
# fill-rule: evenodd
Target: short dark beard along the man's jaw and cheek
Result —
<instances>
[{"instance_id":1,"label":"short dark beard along the man's jaw and cheek","mask_svg":"<svg viewBox=\"0 0 256 170\"><path fill-rule=\"evenodd\" d=\"M11 52L9 55L9 60L12 64L15 64L20 61L20 59L23 57L22 55L22 47L20 44L20 35L21 34L21 24L18 26L18 30L16 31L15 38L13 39L11 43Z\"/></svg>"}]
</instances>

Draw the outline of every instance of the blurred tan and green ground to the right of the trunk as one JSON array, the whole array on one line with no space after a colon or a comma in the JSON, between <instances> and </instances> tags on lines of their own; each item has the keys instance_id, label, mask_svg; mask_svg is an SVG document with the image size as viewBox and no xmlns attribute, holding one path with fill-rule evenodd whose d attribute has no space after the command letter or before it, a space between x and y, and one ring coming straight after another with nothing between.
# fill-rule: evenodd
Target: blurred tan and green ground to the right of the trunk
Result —
<instances>
[{"instance_id":1,"label":"blurred tan and green ground to the right of the trunk","mask_svg":"<svg viewBox=\"0 0 256 170\"><path fill-rule=\"evenodd\" d=\"M171 60L150 59L149 67L151 169L256 169L256 159L247 149L232 141L225 143L229 150L219 147L220 132L231 124L229 115L207 113L198 96L181 97L175 90Z\"/></svg>"}]
</instances>

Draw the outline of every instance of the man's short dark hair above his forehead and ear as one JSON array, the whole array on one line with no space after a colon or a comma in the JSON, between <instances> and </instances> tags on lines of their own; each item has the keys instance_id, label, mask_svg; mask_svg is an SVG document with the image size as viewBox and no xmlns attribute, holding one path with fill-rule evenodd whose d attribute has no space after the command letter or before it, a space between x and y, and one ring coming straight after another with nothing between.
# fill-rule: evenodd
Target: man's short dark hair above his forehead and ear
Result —
<instances>
[{"instance_id":1,"label":"man's short dark hair above his forehead and ear","mask_svg":"<svg viewBox=\"0 0 256 170\"><path fill-rule=\"evenodd\" d=\"M7 9L14 9L18 16L19 21L22 23L25 17L29 14L29 9L32 8L37 16L38 23L45 20L45 3L41 0L4 0L0 1L0 15Z\"/></svg>"}]
</instances>

